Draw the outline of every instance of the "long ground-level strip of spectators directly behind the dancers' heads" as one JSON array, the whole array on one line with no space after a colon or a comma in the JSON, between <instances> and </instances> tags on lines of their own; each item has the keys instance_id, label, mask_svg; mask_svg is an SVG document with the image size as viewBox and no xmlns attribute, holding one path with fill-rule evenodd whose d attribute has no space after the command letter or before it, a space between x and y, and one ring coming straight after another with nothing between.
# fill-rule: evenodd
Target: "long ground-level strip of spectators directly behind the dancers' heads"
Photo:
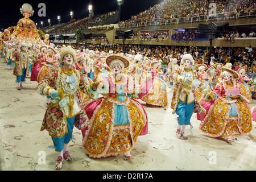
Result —
<instances>
[{"instance_id":1,"label":"long ground-level strip of spectators directly behind the dancers' heads","mask_svg":"<svg viewBox=\"0 0 256 182\"><path fill-rule=\"evenodd\" d=\"M140 53L149 59L154 57L158 60L162 60L162 65L168 65L170 59L174 57L178 60L178 63L180 63L185 53L191 53L195 60L195 69L196 65L201 63L207 64L208 67L210 63L232 63L233 69L245 66L247 67L246 72L256 73L256 54L255 49L251 46L248 48L216 47L212 49L211 53L209 53L209 47L201 48L195 46L150 46L132 44L125 44L124 48L119 44L88 44L87 47L83 44L72 44L71 46L81 51L88 48L93 51L104 51L106 53L109 51L133 55Z\"/></svg>"}]
</instances>

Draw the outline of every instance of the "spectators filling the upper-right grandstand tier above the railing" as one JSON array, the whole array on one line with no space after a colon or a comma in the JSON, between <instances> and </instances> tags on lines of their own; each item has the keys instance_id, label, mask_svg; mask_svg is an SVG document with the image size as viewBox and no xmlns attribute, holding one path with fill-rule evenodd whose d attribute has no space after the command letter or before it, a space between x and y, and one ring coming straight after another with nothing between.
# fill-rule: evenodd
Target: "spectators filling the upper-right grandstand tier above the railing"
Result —
<instances>
[{"instance_id":1,"label":"spectators filling the upper-right grandstand tier above the railing","mask_svg":"<svg viewBox=\"0 0 256 182\"><path fill-rule=\"evenodd\" d=\"M131 16L129 20L124 20L119 23L121 27L123 24L131 23L142 23L142 22L155 22L158 20L167 20L172 18L187 18L202 15L212 15L213 7L210 3L215 3L216 14L223 14L225 16L230 16L231 12L243 11L243 14L255 14L256 4L253 0L195 0L195 1L185 1L185 0L166 0L158 5L150 7L135 16ZM215 8L215 7L214 7Z\"/></svg>"}]
</instances>

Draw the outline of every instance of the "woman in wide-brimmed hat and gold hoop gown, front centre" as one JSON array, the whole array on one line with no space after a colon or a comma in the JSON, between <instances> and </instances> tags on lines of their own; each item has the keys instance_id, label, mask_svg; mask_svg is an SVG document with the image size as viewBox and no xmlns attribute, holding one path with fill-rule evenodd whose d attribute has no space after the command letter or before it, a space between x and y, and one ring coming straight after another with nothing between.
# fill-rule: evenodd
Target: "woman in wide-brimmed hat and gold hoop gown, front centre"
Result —
<instances>
[{"instance_id":1,"label":"woman in wide-brimmed hat and gold hoop gown, front centre","mask_svg":"<svg viewBox=\"0 0 256 182\"><path fill-rule=\"evenodd\" d=\"M104 96L85 107L90 123L82 146L92 158L124 154L125 160L133 159L130 151L138 136L147 134L147 114L138 101L127 96L136 87L123 74L129 67L126 57L109 55L106 64L112 73L105 77Z\"/></svg>"}]
</instances>

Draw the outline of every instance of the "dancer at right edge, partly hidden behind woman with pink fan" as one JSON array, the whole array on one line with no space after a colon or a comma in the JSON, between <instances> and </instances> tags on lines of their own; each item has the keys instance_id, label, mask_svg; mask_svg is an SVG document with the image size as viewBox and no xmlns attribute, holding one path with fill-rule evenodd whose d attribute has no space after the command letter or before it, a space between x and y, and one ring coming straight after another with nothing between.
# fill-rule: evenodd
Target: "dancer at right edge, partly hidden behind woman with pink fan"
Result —
<instances>
[{"instance_id":1,"label":"dancer at right edge, partly hidden behind woman with pink fan","mask_svg":"<svg viewBox=\"0 0 256 182\"><path fill-rule=\"evenodd\" d=\"M248 103L250 103L253 100L253 98L251 97L251 87L250 87L249 84L253 80L245 75L245 73L246 73L245 69L246 69L245 67L241 67L237 70L238 75L240 75L240 78L238 79L238 81L241 84L243 84L243 86L245 86L245 88L246 88L246 95L245 96L247 98Z\"/></svg>"}]
</instances>

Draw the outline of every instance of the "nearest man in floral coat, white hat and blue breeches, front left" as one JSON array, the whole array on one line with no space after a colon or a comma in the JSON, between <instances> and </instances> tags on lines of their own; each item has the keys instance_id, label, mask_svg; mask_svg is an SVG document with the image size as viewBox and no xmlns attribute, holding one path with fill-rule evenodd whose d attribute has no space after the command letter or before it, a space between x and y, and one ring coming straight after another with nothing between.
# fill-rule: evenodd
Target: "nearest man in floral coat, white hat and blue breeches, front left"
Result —
<instances>
[{"instance_id":1,"label":"nearest man in floral coat, white hat and blue breeches, front left","mask_svg":"<svg viewBox=\"0 0 256 182\"><path fill-rule=\"evenodd\" d=\"M72 161L67 146L72 138L73 126L82 130L89 123L81 104L79 88L93 96L99 84L94 82L87 85L81 72L72 68L73 61L76 61L75 50L71 47L62 48L59 67L49 69L47 75L39 82L39 93L42 96L51 96L41 131L48 131L55 151L59 154L56 169L62 167L63 158Z\"/></svg>"}]
</instances>

